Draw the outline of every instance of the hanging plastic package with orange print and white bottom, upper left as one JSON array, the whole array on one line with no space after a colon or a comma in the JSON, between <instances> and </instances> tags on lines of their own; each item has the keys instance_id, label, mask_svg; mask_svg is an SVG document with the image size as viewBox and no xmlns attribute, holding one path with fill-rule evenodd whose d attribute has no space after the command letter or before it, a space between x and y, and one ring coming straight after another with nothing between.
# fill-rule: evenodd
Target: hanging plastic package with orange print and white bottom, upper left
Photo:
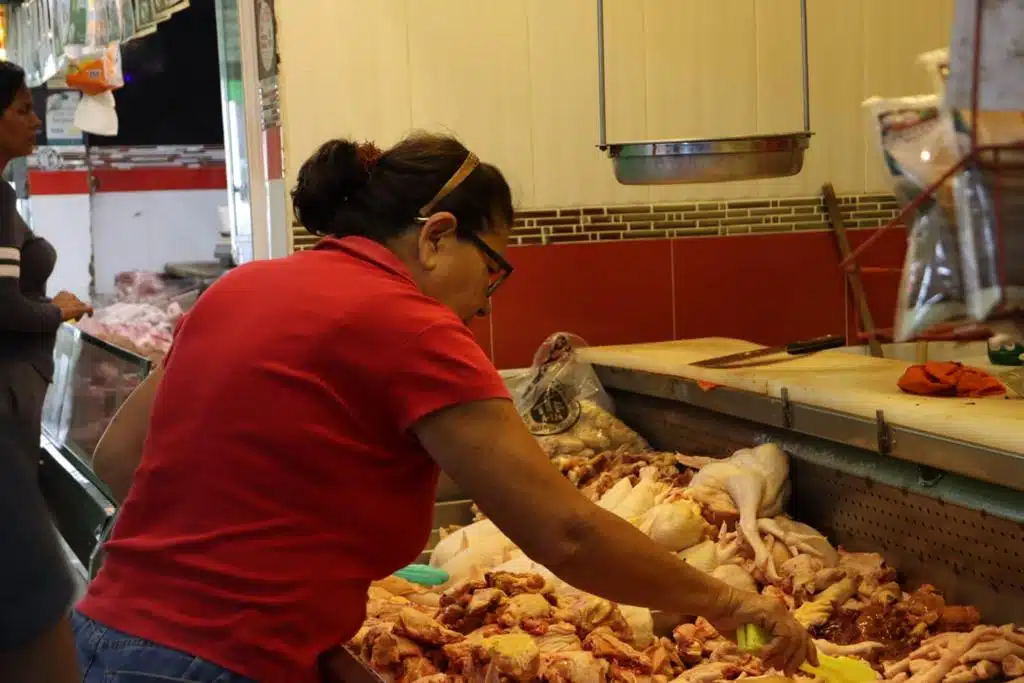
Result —
<instances>
[{"instance_id":1,"label":"hanging plastic package with orange print and white bottom, upper left","mask_svg":"<svg viewBox=\"0 0 1024 683\"><path fill-rule=\"evenodd\" d=\"M114 90L124 86L121 40L125 37L119 0L73 0L68 87L82 92L75 125L94 135L117 135ZM130 36L129 36L130 37Z\"/></svg>"}]
</instances>

